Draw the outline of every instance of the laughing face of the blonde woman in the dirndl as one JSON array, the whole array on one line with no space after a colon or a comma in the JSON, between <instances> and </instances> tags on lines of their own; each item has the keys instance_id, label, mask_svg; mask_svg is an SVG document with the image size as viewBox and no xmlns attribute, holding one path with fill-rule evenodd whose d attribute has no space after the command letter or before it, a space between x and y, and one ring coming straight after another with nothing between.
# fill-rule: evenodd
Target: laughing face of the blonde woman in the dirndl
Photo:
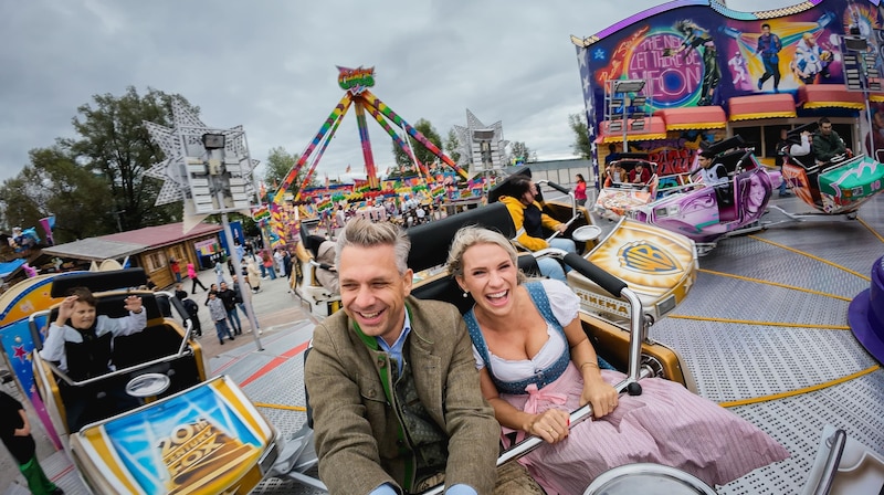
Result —
<instances>
[{"instance_id":1,"label":"laughing face of the blonde woman in the dirndl","mask_svg":"<svg viewBox=\"0 0 884 495\"><path fill-rule=\"evenodd\" d=\"M518 267L506 250L497 244L475 244L463 253L463 275L457 283L487 313L501 313L512 306L517 275Z\"/></svg>"}]
</instances>

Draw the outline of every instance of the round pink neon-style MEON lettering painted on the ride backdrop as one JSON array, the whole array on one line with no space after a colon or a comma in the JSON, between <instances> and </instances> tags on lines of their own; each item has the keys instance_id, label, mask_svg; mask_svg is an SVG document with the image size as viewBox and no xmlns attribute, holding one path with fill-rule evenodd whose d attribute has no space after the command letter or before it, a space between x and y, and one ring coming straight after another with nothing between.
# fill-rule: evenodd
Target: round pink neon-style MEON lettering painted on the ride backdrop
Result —
<instances>
[{"instance_id":1,"label":"round pink neon-style MEON lettering painted on the ride backdrop","mask_svg":"<svg viewBox=\"0 0 884 495\"><path fill-rule=\"evenodd\" d=\"M703 60L697 50L682 46L682 36L663 32L645 36L629 54L625 63L629 78L651 80L654 106L682 106L699 91L703 83ZM665 50L673 55L664 56Z\"/></svg>"}]
</instances>

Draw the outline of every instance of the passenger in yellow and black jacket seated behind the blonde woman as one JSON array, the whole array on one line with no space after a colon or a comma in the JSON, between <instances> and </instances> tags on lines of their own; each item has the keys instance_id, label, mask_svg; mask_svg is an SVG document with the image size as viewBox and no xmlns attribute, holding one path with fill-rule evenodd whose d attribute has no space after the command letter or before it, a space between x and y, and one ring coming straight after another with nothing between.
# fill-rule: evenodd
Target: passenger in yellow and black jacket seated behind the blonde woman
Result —
<instances>
[{"instance_id":1,"label":"passenger in yellow and black jacket seated behind the blonde woman","mask_svg":"<svg viewBox=\"0 0 884 495\"><path fill-rule=\"evenodd\" d=\"M544 228L564 233L568 225L543 212L537 202L537 185L534 181L528 177L517 176L509 180L509 187L513 196L502 196L499 201L506 204L509 217L513 218L516 242L530 251L556 247L569 253L577 252L577 246L570 239L555 238L549 242L544 239ZM558 261L544 257L537 260L537 266L543 275L566 282L565 270Z\"/></svg>"}]
</instances>

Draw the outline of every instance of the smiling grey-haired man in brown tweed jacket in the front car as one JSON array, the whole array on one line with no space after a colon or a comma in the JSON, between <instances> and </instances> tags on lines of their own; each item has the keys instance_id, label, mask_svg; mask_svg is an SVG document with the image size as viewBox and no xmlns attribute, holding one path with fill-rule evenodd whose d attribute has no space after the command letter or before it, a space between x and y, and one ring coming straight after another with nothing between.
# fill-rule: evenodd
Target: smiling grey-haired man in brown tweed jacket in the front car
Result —
<instances>
[{"instance_id":1,"label":"smiling grey-haired man in brown tweed jacket in the front car","mask_svg":"<svg viewBox=\"0 0 884 495\"><path fill-rule=\"evenodd\" d=\"M354 219L337 242L343 312L305 365L319 477L335 494L541 493L518 463L498 478L499 426L457 309L412 296L408 236ZM496 481L496 485L495 485Z\"/></svg>"}]
</instances>

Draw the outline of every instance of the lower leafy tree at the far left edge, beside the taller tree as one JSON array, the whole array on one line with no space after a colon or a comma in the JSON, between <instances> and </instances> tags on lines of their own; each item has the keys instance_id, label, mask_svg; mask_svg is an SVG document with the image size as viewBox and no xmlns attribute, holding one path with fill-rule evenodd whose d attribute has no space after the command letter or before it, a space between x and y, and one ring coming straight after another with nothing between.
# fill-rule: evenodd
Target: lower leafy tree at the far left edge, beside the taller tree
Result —
<instances>
[{"instance_id":1,"label":"lower leafy tree at the far left edge, beside the taller tree","mask_svg":"<svg viewBox=\"0 0 884 495\"><path fill-rule=\"evenodd\" d=\"M78 166L63 147L32 149L30 164L0 186L0 209L8 223L36 227L55 215L56 243L116 230L109 187ZM84 214L90 212L90 214Z\"/></svg>"}]
</instances>

